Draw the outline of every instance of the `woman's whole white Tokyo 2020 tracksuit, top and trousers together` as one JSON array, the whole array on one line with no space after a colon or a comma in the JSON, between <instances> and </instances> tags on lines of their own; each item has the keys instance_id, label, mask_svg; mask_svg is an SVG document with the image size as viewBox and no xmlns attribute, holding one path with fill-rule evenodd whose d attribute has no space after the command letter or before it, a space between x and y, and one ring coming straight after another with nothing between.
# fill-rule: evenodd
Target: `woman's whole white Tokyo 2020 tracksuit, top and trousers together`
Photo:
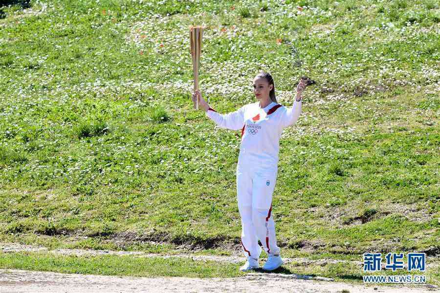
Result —
<instances>
[{"instance_id":1,"label":"woman's whole white Tokyo 2020 tracksuit, top and trousers together","mask_svg":"<svg viewBox=\"0 0 440 293\"><path fill-rule=\"evenodd\" d=\"M271 215L279 141L283 128L294 124L300 114L301 101L295 101L290 108L272 102L262 109L256 102L228 114L220 114L212 108L206 112L222 128L242 129L237 164L237 201L242 218L245 256L260 257L258 239L267 253L280 253Z\"/></svg>"}]
</instances>

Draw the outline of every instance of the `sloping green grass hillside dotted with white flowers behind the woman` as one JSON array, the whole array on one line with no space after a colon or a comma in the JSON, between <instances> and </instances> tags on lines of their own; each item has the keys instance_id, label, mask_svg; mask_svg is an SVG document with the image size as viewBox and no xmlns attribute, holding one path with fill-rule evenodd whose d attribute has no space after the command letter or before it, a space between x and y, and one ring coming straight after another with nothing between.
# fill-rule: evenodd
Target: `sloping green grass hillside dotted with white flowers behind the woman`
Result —
<instances>
[{"instance_id":1,"label":"sloping green grass hillside dotted with white flowers behind the woman","mask_svg":"<svg viewBox=\"0 0 440 293\"><path fill-rule=\"evenodd\" d=\"M240 132L192 109L188 27L203 24L200 90L217 111L254 102L260 69L292 105L301 73L289 42L316 81L280 143L273 214L283 255L439 257L438 1L0 6L0 241L163 253L239 246ZM325 275L352 275L344 270ZM438 272L431 282L440 284Z\"/></svg>"}]
</instances>

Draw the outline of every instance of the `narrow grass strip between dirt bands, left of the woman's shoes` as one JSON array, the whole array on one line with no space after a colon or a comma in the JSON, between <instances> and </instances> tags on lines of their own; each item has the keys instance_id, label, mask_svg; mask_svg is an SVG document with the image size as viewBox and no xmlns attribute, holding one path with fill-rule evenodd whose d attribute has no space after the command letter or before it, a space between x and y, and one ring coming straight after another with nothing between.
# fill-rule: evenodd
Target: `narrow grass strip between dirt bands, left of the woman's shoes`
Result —
<instances>
[{"instance_id":1,"label":"narrow grass strip between dirt bands, left of the woman's shoes","mask_svg":"<svg viewBox=\"0 0 440 293\"><path fill-rule=\"evenodd\" d=\"M188 276L193 278L237 277L244 275L237 265L186 258L134 256L60 256L51 253L1 253L0 267L30 271L129 275L137 277Z\"/></svg>"}]
</instances>

